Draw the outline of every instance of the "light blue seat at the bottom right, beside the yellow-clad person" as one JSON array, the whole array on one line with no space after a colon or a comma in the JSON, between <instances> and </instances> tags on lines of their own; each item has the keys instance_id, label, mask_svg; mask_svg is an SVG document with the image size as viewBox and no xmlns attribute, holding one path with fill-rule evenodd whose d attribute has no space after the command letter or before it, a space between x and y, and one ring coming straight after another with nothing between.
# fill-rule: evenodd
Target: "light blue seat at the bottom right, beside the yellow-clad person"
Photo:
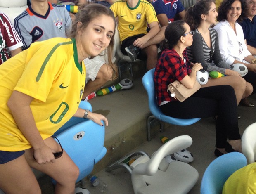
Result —
<instances>
[{"instance_id":1,"label":"light blue seat at the bottom right, beside the yellow-clad person","mask_svg":"<svg viewBox=\"0 0 256 194\"><path fill-rule=\"evenodd\" d=\"M231 152L213 160L201 181L201 194L221 194L228 177L247 165L244 154Z\"/></svg>"}]
</instances>

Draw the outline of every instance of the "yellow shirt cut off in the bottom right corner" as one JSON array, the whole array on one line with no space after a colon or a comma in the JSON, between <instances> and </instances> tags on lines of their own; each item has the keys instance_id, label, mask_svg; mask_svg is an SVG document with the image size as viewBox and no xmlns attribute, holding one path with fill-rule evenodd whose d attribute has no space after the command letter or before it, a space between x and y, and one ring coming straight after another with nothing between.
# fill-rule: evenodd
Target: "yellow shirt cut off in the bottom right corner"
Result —
<instances>
[{"instance_id":1,"label":"yellow shirt cut off in the bottom right corner","mask_svg":"<svg viewBox=\"0 0 256 194\"><path fill-rule=\"evenodd\" d=\"M256 162L235 171L225 182L222 194L256 194Z\"/></svg>"}]
</instances>

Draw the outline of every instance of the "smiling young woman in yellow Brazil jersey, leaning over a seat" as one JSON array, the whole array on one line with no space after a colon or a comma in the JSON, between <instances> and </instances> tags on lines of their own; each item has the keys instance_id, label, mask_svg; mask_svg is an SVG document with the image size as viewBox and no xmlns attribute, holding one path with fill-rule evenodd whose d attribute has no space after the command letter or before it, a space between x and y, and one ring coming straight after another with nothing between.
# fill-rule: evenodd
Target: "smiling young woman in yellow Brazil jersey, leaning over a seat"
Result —
<instances>
[{"instance_id":1,"label":"smiling young woman in yellow Brazil jersey, leaning over a seat","mask_svg":"<svg viewBox=\"0 0 256 194\"><path fill-rule=\"evenodd\" d=\"M77 14L69 38L36 42L0 66L0 189L39 194L31 167L57 181L55 193L73 194L77 166L51 137L72 116L108 125L103 115L78 108L85 85L83 60L107 48L112 56L115 18L91 4ZM109 57L111 59L111 57ZM111 62L111 60L110 60Z\"/></svg>"}]
</instances>

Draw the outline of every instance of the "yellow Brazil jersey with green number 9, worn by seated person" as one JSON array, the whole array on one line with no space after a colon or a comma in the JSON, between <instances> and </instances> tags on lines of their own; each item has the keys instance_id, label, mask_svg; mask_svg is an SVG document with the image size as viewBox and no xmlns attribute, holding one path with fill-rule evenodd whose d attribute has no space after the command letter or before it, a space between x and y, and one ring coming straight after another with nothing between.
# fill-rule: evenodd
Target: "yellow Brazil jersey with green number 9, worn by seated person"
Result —
<instances>
[{"instance_id":1,"label":"yellow Brazil jersey with green number 9, worn by seated person","mask_svg":"<svg viewBox=\"0 0 256 194\"><path fill-rule=\"evenodd\" d=\"M110 9L118 17L121 41L137 34L147 34L147 23L158 22L154 7L147 0L139 0L134 8L129 7L126 1L117 1Z\"/></svg>"}]
</instances>

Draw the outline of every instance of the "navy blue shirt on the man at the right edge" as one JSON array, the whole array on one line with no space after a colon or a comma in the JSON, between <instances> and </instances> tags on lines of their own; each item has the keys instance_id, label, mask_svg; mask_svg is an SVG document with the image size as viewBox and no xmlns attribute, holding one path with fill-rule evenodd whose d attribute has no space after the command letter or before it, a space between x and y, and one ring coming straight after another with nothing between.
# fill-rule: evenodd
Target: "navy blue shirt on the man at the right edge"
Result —
<instances>
[{"instance_id":1,"label":"navy blue shirt on the man at the right edge","mask_svg":"<svg viewBox=\"0 0 256 194\"><path fill-rule=\"evenodd\" d=\"M247 45L256 47L256 16L253 17L252 21L249 18L244 19L240 25L243 28Z\"/></svg>"}]
</instances>

